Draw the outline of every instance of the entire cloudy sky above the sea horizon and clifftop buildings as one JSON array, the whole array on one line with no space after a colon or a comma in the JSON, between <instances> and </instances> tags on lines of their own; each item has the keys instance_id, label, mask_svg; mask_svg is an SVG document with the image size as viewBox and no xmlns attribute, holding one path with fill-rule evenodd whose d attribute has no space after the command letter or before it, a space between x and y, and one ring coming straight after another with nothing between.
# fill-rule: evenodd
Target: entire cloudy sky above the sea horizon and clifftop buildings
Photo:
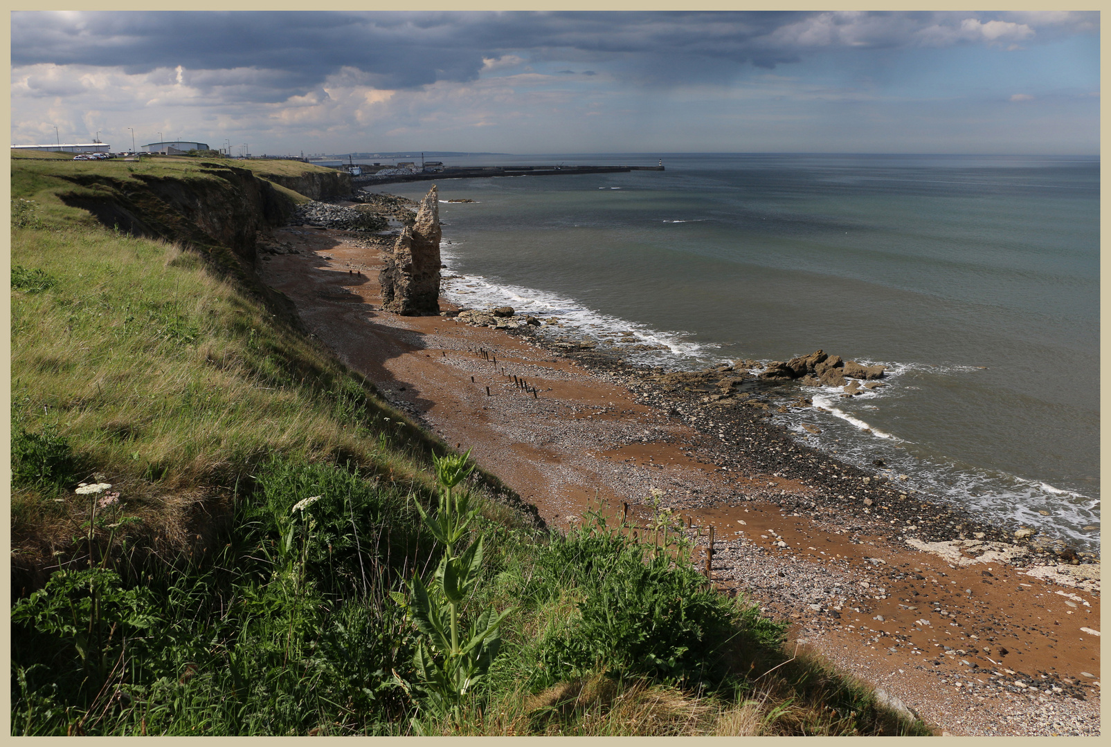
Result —
<instances>
[{"instance_id":1,"label":"entire cloudy sky above the sea horizon and clifftop buildings","mask_svg":"<svg viewBox=\"0 0 1111 747\"><path fill-rule=\"evenodd\" d=\"M1087 155L1099 41L1065 11L21 11L11 142Z\"/></svg>"}]
</instances>

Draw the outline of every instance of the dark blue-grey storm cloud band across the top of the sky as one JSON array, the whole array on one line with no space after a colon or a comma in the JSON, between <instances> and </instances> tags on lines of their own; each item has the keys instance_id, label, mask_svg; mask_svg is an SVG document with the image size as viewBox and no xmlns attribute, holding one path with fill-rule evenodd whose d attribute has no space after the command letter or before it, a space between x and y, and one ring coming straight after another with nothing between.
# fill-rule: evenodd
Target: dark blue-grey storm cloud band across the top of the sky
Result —
<instances>
[{"instance_id":1,"label":"dark blue-grey storm cloud band across the top of the sky","mask_svg":"<svg viewBox=\"0 0 1111 747\"><path fill-rule=\"evenodd\" d=\"M367 84L469 81L483 59L608 62L649 83L719 82L832 47L1029 42L1098 29L1083 13L819 12L14 12L11 60L182 67L183 82L280 101L342 68ZM975 19L970 22L968 19ZM990 26L984 26L990 24ZM1034 29L1037 29L1037 34ZM1094 31L1093 31L1094 32ZM588 73L589 74L589 73Z\"/></svg>"}]
</instances>

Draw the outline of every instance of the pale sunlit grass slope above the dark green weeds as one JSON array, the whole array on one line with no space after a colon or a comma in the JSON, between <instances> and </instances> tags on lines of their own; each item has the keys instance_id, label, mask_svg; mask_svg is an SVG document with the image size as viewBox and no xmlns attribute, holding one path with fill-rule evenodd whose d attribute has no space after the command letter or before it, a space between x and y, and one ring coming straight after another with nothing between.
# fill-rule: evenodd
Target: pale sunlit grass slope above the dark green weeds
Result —
<instances>
[{"instance_id":1,"label":"pale sunlit grass slope above the dark green weeds","mask_svg":"<svg viewBox=\"0 0 1111 747\"><path fill-rule=\"evenodd\" d=\"M444 447L197 254L102 230L24 229L12 263L16 442L70 444L73 474L103 475L171 546L186 546L183 508L226 511L276 453L427 489L418 464ZM76 534L79 502L13 487L17 552L41 556Z\"/></svg>"}]
</instances>

